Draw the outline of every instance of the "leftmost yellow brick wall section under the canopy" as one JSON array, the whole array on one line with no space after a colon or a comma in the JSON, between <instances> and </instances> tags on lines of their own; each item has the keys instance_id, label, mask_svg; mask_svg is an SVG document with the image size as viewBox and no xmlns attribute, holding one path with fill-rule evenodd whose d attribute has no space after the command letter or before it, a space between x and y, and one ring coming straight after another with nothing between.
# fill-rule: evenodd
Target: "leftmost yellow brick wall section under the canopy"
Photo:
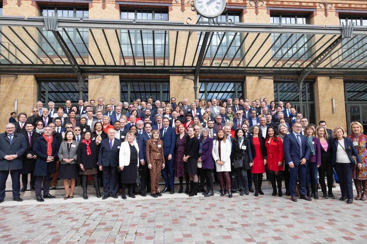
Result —
<instances>
[{"instance_id":1,"label":"leftmost yellow brick wall section under the canopy","mask_svg":"<svg viewBox=\"0 0 367 244\"><path fill-rule=\"evenodd\" d=\"M32 107L37 102L37 82L34 75L18 75L18 77L1 78L0 107L1 126L9 122L10 113L15 111L15 99L18 99L17 112L32 114ZM4 131L0 127L0 131Z\"/></svg>"}]
</instances>

